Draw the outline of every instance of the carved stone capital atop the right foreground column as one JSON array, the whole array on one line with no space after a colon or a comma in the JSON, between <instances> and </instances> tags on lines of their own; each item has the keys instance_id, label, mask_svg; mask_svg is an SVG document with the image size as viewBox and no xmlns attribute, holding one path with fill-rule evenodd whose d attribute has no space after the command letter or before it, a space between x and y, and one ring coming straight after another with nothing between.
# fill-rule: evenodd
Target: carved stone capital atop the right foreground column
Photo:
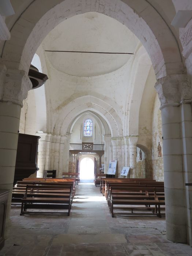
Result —
<instances>
[{"instance_id":1,"label":"carved stone capital atop the right foreground column","mask_svg":"<svg viewBox=\"0 0 192 256\"><path fill-rule=\"evenodd\" d=\"M155 83L161 107L179 106L181 103L192 102L191 82L186 74L168 75Z\"/></svg>"}]
</instances>

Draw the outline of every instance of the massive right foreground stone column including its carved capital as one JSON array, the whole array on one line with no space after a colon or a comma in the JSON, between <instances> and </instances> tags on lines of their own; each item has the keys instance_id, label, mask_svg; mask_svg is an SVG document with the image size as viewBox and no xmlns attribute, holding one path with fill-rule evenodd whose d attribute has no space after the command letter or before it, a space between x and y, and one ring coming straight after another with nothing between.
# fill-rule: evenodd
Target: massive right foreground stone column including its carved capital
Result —
<instances>
[{"instance_id":1,"label":"massive right foreground stone column including its carved capital","mask_svg":"<svg viewBox=\"0 0 192 256\"><path fill-rule=\"evenodd\" d=\"M185 104L191 102L191 83L186 75L171 75L159 79L155 89L161 101L167 239L185 243L188 237L191 244L185 187L192 170L192 114L191 105ZM192 199L190 190L187 207Z\"/></svg>"}]
</instances>

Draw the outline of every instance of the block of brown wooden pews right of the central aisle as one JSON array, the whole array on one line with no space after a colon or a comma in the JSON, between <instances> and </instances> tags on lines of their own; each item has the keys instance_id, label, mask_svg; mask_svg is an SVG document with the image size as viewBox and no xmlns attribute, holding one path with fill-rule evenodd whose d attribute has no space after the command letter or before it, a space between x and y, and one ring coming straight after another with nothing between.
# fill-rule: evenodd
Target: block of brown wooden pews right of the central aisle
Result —
<instances>
[{"instance_id":1,"label":"block of brown wooden pews right of the central aisle","mask_svg":"<svg viewBox=\"0 0 192 256\"><path fill-rule=\"evenodd\" d=\"M112 217L156 214L161 218L161 210L165 209L162 207L165 206L164 182L102 178L101 192L106 197Z\"/></svg>"}]
</instances>

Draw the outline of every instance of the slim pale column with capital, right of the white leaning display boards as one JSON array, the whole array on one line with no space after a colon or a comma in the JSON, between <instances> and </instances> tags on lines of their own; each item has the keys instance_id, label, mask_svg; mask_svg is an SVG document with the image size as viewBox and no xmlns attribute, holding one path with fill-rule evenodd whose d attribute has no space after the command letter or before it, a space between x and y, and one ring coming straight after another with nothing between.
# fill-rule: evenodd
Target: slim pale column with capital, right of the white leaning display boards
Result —
<instances>
[{"instance_id":1,"label":"slim pale column with capital, right of the white leaning display boards","mask_svg":"<svg viewBox=\"0 0 192 256\"><path fill-rule=\"evenodd\" d=\"M129 166L130 178L136 178L136 159L137 159L137 141L138 136L129 136Z\"/></svg>"}]
</instances>

